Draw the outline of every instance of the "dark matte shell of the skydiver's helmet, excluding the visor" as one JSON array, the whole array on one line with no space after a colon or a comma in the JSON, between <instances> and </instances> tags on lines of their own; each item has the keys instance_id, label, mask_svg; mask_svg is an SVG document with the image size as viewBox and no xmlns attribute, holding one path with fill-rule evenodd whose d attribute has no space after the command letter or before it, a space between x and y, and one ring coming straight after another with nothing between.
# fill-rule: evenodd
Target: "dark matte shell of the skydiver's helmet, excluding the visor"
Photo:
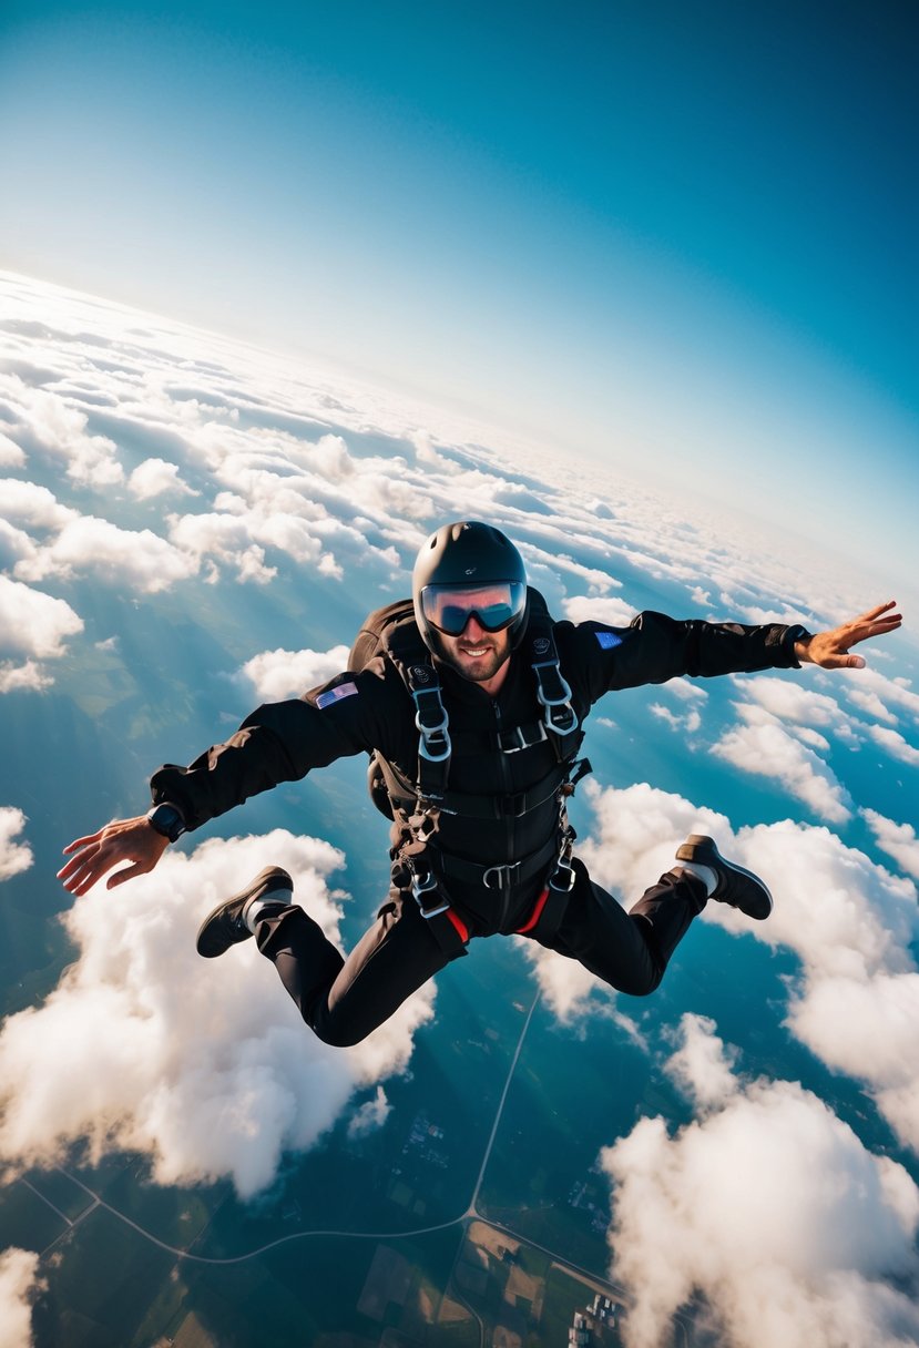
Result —
<instances>
[{"instance_id":1,"label":"dark matte shell of the skydiver's helmet, excluding the visor","mask_svg":"<svg viewBox=\"0 0 919 1348\"><path fill-rule=\"evenodd\" d=\"M527 584L527 569L523 558L507 534L493 524L481 520L455 520L442 524L437 532L422 545L411 578L411 597L415 605L415 621L422 640L429 651L439 654L439 632L430 625L422 609L422 590L426 585L493 585L496 581L516 581ZM530 617L530 599L520 617L507 632L511 648L523 640Z\"/></svg>"}]
</instances>

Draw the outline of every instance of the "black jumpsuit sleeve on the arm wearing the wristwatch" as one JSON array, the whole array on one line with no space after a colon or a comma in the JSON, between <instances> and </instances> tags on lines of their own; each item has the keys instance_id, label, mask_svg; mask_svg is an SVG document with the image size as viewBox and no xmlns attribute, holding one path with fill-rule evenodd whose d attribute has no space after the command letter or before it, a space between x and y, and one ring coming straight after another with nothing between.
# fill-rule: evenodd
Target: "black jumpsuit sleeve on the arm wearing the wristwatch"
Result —
<instances>
[{"instance_id":1,"label":"black jumpsuit sleeve on the arm wearing the wristwatch","mask_svg":"<svg viewBox=\"0 0 919 1348\"><path fill-rule=\"evenodd\" d=\"M197 829L280 782L385 744L398 693L368 667L340 674L303 697L267 702L187 767L158 768L150 779L154 802L177 805L187 829Z\"/></svg>"}]
</instances>

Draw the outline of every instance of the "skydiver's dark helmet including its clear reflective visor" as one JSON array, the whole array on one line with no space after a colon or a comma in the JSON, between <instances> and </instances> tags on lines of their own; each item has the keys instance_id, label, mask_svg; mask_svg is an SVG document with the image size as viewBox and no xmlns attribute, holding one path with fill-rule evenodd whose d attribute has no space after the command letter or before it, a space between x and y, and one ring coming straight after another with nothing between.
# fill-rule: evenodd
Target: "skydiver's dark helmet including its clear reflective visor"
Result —
<instances>
[{"instance_id":1,"label":"skydiver's dark helmet including its clear reflective visor","mask_svg":"<svg viewBox=\"0 0 919 1348\"><path fill-rule=\"evenodd\" d=\"M439 654L438 625L442 631L450 631L447 625L431 621L433 596L443 599L443 592L485 590L495 585L508 586L507 603L492 605L495 612L474 612L488 631L507 630L511 648L516 650L527 631L530 600L527 570L511 539L500 528L478 520L442 524L431 534L422 546L412 572L415 621L427 648Z\"/></svg>"}]
</instances>

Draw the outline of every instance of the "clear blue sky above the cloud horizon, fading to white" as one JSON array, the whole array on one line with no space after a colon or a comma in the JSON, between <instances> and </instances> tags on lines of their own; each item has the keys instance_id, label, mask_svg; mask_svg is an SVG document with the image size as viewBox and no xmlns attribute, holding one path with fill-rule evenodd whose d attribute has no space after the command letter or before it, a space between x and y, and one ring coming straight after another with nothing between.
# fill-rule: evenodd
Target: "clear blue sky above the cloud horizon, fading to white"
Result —
<instances>
[{"instance_id":1,"label":"clear blue sky above the cloud horizon, fading to white","mask_svg":"<svg viewBox=\"0 0 919 1348\"><path fill-rule=\"evenodd\" d=\"M12 3L0 256L779 519L868 603L919 563L918 34L896 3Z\"/></svg>"}]
</instances>

